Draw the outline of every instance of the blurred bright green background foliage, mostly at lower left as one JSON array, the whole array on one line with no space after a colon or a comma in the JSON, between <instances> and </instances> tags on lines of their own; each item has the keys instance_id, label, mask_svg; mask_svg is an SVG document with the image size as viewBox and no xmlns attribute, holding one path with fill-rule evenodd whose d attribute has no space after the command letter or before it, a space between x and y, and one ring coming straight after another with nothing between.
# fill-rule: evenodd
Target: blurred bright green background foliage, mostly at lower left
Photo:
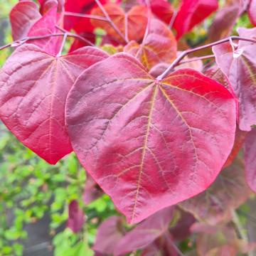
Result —
<instances>
[{"instance_id":1,"label":"blurred bright green background foliage, mostly at lower left","mask_svg":"<svg viewBox=\"0 0 256 256\"><path fill-rule=\"evenodd\" d=\"M0 46L12 41L9 12L16 2L0 0ZM188 33L186 41L191 45L201 43L211 20L212 17L208 18ZM250 27L247 16L242 16L237 26ZM1 50L0 67L11 51ZM75 154L50 166L0 124L0 255L93 255L90 247L97 227L102 220L118 213L106 195L85 206L85 181L85 171ZM87 218L76 234L66 228L68 205L74 200ZM246 205L240 209L240 213L247 211ZM242 223L247 222L246 216L240 215ZM181 243L183 250L188 250L189 242Z\"/></svg>"}]
</instances>

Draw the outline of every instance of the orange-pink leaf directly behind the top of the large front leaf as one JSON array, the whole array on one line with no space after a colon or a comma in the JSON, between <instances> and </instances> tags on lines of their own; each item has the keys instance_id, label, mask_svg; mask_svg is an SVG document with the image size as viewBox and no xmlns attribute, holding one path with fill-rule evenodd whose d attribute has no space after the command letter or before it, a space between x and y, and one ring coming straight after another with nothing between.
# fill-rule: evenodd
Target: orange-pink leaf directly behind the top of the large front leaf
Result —
<instances>
[{"instance_id":1,"label":"orange-pink leaf directly behind the top of the large front leaf","mask_svg":"<svg viewBox=\"0 0 256 256\"><path fill-rule=\"evenodd\" d=\"M177 43L163 22L152 19L142 44L131 41L124 47L124 52L134 55L149 70L158 63L171 63L176 58Z\"/></svg>"}]
</instances>

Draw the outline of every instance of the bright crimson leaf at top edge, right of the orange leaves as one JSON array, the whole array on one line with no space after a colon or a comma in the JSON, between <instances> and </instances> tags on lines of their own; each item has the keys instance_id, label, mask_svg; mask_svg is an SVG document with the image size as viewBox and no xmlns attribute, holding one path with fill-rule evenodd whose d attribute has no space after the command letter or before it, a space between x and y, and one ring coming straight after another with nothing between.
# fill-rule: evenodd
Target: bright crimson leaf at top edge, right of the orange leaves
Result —
<instances>
[{"instance_id":1,"label":"bright crimson leaf at top edge, right of the orange leaves","mask_svg":"<svg viewBox=\"0 0 256 256\"><path fill-rule=\"evenodd\" d=\"M183 34L191 31L217 9L218 0L183 0L174 22L176 38L179 39Z\"/></svg>"}]
</instances>

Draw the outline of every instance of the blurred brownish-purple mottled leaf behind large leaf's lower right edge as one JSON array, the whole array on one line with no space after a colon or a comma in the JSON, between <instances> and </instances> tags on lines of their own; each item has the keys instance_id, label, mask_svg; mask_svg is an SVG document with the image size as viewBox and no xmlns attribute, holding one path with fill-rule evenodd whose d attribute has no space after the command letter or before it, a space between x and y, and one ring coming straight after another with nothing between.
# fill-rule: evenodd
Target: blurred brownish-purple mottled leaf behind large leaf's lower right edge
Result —
<instances>
[{"instance_id":1,"label":"blurred brownish-purple mottled leaf behind large leaf's lower right edge","mask_svg":"<svg viewBox=\"0 0 256 256\"><path fill-rule=\"evenodd\" d=\"M198 196L184 201L180 206L204 223L215 225L232 218L232 212L250 195L245 182L244 165L235 161L223 170L215 183Z\"/></svg>"}]
</instances>

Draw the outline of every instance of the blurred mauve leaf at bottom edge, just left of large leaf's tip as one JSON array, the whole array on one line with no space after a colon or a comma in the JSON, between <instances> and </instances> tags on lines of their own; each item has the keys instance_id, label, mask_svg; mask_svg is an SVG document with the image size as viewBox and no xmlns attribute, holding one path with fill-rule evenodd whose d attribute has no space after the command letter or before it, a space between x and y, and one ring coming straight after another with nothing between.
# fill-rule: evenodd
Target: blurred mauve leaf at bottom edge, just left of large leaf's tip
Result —
<instances>
[{"instance_id":1,"label":"blurred mauve leaf at bottom edge, just left of large leaf's tip","mask_svg":"<svg viewBox=\"0 0 256 256\"><path fill-rule=\"evenodd\" d=\"M97 230L97 237L93 250L104 255L112 255L117 243L124 236L122 218L112 216L105 220Z\"/></svg>"}]
</instances>

